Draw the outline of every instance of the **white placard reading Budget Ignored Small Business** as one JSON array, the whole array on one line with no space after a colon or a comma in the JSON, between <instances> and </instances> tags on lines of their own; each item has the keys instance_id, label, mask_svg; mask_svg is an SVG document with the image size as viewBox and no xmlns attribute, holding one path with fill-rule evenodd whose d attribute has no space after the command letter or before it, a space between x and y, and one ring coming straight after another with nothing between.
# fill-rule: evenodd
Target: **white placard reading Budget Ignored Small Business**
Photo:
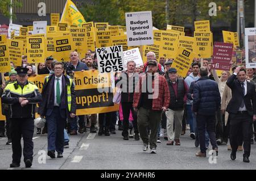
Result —
<instances>
[{"instance_id":1,"label":"white placard reading Budget Ignored Small Business","mask_svg":"<svg viewBox=\"0 0 256 181\"><path fill-rule=\"evenodd\" d=\"M125 20L129 47L154 44L151 11L126 12Z\"/></svg>"}]
</instances>

